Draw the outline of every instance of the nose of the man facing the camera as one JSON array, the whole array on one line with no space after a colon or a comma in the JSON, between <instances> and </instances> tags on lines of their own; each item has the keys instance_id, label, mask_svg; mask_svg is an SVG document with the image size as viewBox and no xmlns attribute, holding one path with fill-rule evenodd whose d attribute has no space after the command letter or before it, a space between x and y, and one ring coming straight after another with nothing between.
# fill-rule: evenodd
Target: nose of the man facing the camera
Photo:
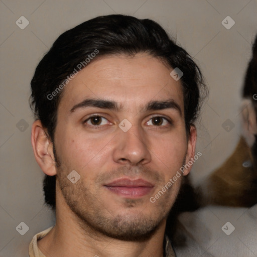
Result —
<instances>
[{"instance_id":1,"label":"nose of the man facing the camera","mask_svg":"<svg viewBox=\"0 0 257 257\"><path fill-rule=\"evenodd\" d=\"M132 125L129 131L123 132L118 128L115 137L113 159L118 164L133 166L151 162L151 153L147 147L148 140L140 126Z\"/></svg>"}]
</instances>

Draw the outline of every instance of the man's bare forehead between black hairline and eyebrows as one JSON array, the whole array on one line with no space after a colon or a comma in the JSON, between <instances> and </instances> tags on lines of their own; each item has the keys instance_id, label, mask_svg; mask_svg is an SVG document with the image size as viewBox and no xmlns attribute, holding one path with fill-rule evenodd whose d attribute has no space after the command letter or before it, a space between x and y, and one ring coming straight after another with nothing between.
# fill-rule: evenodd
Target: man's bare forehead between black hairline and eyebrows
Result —
<instances>
[{"instance_id":1,"label":"man's bare forehead between black hairline and eyebrows","mask_svg":"<svg viewBox=\"0 0 257 257\"><path fill-rule=\"evenodd\" d=\"M172 70L148 54L97 58L71 79L62 92L59 108L67 110L92 97L127 107L172 98L184 110L182 86L170 76Z\"/></svg>"}]
</instances>

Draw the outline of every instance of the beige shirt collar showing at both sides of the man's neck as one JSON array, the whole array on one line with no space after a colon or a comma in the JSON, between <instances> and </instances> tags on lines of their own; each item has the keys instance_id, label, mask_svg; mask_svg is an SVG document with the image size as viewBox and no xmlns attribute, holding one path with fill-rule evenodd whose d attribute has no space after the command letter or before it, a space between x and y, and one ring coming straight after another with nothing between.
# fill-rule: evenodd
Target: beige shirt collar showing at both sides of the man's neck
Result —
<instances>
[{"instance_id":1,"label":"beige shirt collar showing at both sides of the man's neck","mask_svg":"<svg viewBox=\"0 0 257 257\"><path fill-rule=\"evenodd\" d=\"M46 257L42 251L38 248L38 244L37 241L41 238L43 238L51 229L52 227L49 227L48 229L36 234L33 236L32 241L30 242L30 246L29 246L29 255L30 257ZM165 236L165 240L166 240L166 247L165 247L165 257L176 257L175 252L172 248L171 242L168 238L168 236Z\"/></svg>"}]
</instances>

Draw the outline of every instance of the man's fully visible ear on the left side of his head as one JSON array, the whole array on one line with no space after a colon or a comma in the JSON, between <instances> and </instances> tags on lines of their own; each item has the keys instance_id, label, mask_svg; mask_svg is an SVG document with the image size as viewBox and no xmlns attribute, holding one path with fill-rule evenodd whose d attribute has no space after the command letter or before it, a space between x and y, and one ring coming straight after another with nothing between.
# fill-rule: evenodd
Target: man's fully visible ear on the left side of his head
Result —
<instances>
[{"instance_id":1,"label":"man's fully visible ear on the left side of his head","mask_svg":"<svg viewBox=\"0 0 257 257\"><path fill-rule=\"evenodd\" d=\"M32 125L31 142L34 156L42 171L49 176L56 175L53 143L46 135L39 119Z\"/></svg>"}]
</instances>

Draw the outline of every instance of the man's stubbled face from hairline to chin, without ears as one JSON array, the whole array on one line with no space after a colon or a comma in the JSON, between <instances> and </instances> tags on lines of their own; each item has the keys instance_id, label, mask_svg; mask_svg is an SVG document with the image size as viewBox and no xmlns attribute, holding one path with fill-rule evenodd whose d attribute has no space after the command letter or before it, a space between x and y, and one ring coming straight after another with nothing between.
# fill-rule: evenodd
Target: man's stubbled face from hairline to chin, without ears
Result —
<instances>
[{"instance_id":1,"label":"man's stubbled face from hairline to chin, without ears","mask_svg":"<svg viewBox=\"0 0 257 257\"><path fill-rule=\"evenodd\" d=\"M164 221L181 178L155 203L150 197L184 164L188 146L182 86L171 70L147 54L102 57L66 86L55 131L60 212L68 206L82 226L124 240L144 238ZM116 108L80 104L87 99Z\"/></svg>"}]
</instances>

